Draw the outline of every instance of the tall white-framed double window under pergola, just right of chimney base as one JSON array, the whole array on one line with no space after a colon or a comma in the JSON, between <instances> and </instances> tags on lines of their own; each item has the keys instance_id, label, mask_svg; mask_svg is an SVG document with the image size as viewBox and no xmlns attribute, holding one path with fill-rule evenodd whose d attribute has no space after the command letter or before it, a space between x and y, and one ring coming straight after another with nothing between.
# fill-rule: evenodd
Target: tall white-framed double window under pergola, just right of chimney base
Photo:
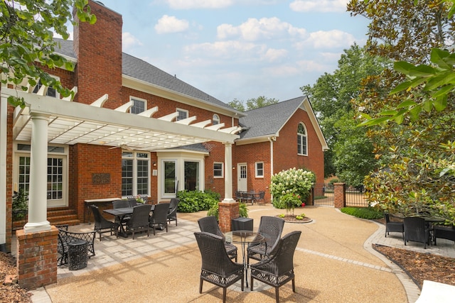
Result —
<instances>
[{"instance_id":1,"label":"tall white-framed double window under pergola, just right of chimney base","mask_svg":"<svg viewBox=\"0 0 455 303\"><path fill-rule=\"evenodd\" d=\"M122 153L122 197L149 194L149 153Z\"/></svg>"}]
</instances>

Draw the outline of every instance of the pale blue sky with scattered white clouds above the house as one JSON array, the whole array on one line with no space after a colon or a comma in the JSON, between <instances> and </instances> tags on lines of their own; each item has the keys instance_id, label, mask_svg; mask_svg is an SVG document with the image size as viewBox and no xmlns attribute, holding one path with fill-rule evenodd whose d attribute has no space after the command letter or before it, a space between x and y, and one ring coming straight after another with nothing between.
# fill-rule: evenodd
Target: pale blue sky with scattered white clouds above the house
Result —
<instances>
[{"instance_id":1,"label":"pale blue sky with scattered white clouds above the house","mask_svg":"<svg viewBox=\"0 0 455 303\"><path fill-rule=\"evenodd\" d=\"M122 49L228 103L300 97L365 45L348 0L101 0L122 15Z\"/></svg>"}]
</instances>

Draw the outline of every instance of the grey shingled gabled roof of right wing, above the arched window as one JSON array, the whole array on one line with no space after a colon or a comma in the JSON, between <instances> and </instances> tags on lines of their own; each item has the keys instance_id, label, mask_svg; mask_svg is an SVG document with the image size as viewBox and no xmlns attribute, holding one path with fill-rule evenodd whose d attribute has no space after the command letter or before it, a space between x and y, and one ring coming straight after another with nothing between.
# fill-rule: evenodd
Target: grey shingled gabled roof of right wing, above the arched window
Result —
<instances>
[{"instance_id":1,"label":"grey shingled gabled roof of right wing, above the arched window","mask_svg":"<svg viewBox=\"0 0 455 303\"><path fill-rule=\"evenodd\" d=\"M306 96L245 111L247 116L239 119L239 124L244 128L244 131L240 133L240 140L236 141L236 143L241 144L241 141L245 141L246 143L246 141L249 142L255 138L259 140L262 138L262 141L265 141L268 137L279 136L279 131L299 108L308 113L323 150L328 149L326 139L323 136L321 127Z\"/></svg>"}]
</instances>

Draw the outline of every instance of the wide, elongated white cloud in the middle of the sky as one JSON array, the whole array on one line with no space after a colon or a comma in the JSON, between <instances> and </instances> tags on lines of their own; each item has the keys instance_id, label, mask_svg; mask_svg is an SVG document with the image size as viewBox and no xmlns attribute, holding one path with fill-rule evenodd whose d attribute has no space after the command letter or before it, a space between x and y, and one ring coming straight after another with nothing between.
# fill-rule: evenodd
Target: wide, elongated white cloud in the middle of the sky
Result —
<instances>
[{"instance_id":1,"label":"wide, elongated white cloud in the middle of the sky","mask_svg":"<svg viewBox=\"0 0 455 303\"><path fill-rule=\"evenodd\" d=\"M298 36L303 38L306 35L304 28L295 28L279 18L249 18L240 26L222 24L217 28L217 35L220 39L242 37L247 41L263 39L286 38L287 36Z\"/></svg>"}]
</instances>

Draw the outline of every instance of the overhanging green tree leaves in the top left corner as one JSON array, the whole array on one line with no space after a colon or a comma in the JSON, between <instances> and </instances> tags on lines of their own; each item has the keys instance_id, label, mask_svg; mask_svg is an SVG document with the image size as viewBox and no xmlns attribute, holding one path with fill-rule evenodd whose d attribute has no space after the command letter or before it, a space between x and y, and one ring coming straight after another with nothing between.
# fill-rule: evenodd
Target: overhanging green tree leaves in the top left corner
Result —
<instances>
[{"instance_id":1,"label":"overhanging green tree leaves in the top left corner","mask_svg":"<svg viewBox=\"0 0 455 303\"><path fill-rule=\"evenodd\" d=\"M50 77L41 65L50 69L74 69L73 62L55 53L59 45L53 35L56 33L68 39L67 24L73 21L73 6L79 21L95 23L96 17L87 4L88 0L0 1L1 82L10 82L26 90L24 79L31 86L41 79L44 85L57 89L63 97L70 95L70 90ZM13 106L25 105L16 97L9 97L8 101Z\"/></svg>"}]
</instances>

